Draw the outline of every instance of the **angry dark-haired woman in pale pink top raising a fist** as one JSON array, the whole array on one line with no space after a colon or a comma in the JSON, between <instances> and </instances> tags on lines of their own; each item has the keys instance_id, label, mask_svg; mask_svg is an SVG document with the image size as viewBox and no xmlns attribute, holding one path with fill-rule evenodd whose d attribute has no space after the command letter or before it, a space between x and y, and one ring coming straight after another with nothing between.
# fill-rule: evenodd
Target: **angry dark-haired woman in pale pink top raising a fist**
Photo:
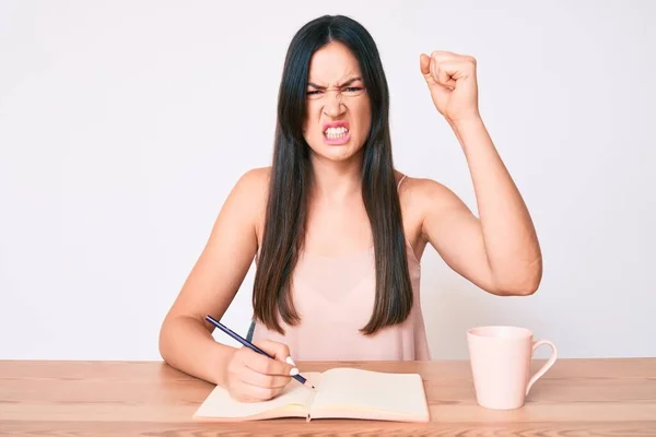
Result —
<instances>
[{"instance_id":1,"label":"angry dark-haired woman in pale pink top raising a fist","mask_svg":"<svg viewBox=\"0 0 656 437\"><path fill-rule=\"evenodd\" d=\"M443 185L394 168L374 40L351 19L316 19L289 47L272 166L237 181L163 323L167 363L259 401L298 371L294 359L430 359L426 244L489 293L536 291L539 244L479 115L473 58L434 51L420 71L462 146L480 218ZM254 343L276 359L216 343L204 321L222 317L254 258Z\"/></svg>"}]
</instances>

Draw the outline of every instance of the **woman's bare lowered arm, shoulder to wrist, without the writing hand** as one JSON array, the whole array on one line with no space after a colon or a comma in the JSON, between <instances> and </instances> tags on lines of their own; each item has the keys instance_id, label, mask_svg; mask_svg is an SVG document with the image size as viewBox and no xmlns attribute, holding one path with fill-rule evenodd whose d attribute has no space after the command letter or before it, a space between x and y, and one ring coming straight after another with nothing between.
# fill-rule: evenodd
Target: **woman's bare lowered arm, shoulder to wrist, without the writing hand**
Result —
<instances>
[{"instance_id":1,"label":"woman's bare lowered arm, shoulder to wrist, without the writing hand","mask_svg":"<svg viewBox=\"0 0 656 437\"><path fill-rule=\"evenodd\" d=\"M223 374L234 349L214 341L213 326L204 317L223 316L250 268L265 177L265 169L255 169L237 181L160 332L164 361L220 386L225 383Z\"/></svg>"}]
</instances>

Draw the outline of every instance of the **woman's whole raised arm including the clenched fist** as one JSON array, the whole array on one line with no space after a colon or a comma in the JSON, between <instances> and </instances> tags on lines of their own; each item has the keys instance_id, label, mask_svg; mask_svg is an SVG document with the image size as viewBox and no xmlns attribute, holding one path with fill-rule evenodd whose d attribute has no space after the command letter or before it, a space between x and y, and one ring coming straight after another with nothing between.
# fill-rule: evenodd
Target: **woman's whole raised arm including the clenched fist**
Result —
<instances>
[{"instance_id":1,"label":"woman's whole raised arm including the clenched fist","mask_svg":"<svg viewBox=\"0 0 656 437\"><path fill-rule=\"evenodd\" d=\"M478 110L476 60L448 51L421 57L433 103L465 156L479 217L444 186L417 182L425 240L456 272L497 295L528 295L539 286L542 256L528 209Z\"/></svg>"}]
</instances>

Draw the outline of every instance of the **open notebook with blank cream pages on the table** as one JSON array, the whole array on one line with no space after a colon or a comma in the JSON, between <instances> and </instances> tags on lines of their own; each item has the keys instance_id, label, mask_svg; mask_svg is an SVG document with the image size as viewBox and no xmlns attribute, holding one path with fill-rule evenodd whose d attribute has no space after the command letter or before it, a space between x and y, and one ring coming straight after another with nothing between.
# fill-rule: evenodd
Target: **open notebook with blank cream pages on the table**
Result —
<instances>
[{"instance_id":1,"label":"open notebook with blank cream pages on the table","mask_svg":"<svg viewBox=\"0 0 656 437\"><path fill-rule=\"evenodd\" d=\"M242 422L280 417L429 422L421 376L337 367L303 373L315 390L292 380L274 399L238 402L216 386L194 414L197 421Z\"/></svg>"}]
</instances>

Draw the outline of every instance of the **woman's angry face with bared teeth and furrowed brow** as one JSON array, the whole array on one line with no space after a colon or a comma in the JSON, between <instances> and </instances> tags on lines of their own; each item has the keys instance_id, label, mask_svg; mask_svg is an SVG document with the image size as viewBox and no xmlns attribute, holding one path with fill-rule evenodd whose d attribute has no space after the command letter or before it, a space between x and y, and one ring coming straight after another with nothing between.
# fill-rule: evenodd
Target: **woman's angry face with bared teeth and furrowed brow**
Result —
<instances>
[{"instance_id":1,"label":"woman's angry face with bared teeth and furrowed brow","mask_svg":"<svg viewBox=\"0 0 656 437\"><path fill-rule=\"evenodd\" d=\"M309 63L304 138L315 157L348 161L358 155L371 127L371 103L360 66L349 49L330 43Z\"/></svg>"}]
</instances>

